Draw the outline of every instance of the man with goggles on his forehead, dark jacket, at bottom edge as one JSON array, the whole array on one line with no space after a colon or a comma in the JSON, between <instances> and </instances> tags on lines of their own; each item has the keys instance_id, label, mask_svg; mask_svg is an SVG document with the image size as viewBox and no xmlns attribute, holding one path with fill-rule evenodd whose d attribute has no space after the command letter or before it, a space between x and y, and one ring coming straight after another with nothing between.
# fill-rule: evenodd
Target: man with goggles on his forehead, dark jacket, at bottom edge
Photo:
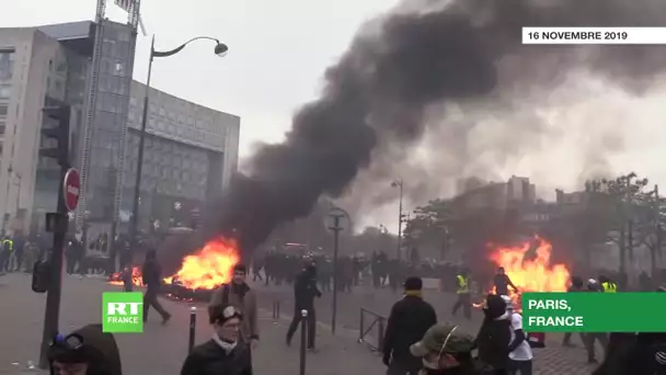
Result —
<instances>
[{"instance_id":1,"label":"man with goggles on his forehead, dark jacket, at bottom edge","mask_svg":"<svg viewBox=\"0 0 666 375\"><path fill-rule=\"evenodd\" d=\"M185 359L181 375L252 375L250 346L240 339L243 316L232 305L208 308L215 332Z\"/></svg>"}]
</instances>

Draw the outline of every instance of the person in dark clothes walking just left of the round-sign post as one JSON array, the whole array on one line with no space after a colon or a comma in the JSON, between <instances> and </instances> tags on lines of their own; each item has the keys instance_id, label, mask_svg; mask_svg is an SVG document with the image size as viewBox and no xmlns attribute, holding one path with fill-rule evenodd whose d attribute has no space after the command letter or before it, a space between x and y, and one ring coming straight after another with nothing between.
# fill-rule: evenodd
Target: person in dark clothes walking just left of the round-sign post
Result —
<instances>
[{"instance_id":1,"label":"person in dark clothes walking just left of the round-sign post","mask_svg":"<svg viewBox=\"0 0 666 375\"><path fill-rule=\"evenodd\" d=\"M317 288L317 266L314 263L309 263L294 283L294 319L287 330L287 345L291 344L291 338L302 319L301 310L306 310L308 311L308 349L314 350L314 336L317 334L314 298L319 297L321 297L321 292Z\"/></svg>"}]
</instances>

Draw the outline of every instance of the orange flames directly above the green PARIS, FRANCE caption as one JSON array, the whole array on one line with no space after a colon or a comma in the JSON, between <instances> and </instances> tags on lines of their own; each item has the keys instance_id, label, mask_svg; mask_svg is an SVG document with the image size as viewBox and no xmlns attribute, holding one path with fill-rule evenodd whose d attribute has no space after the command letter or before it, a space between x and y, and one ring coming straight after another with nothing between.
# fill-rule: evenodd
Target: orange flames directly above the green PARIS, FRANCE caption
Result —
<instances>
[{"instance_id":1,"label":"orange flames directly above the green PARIS, FRANCE caption","mask_svg":"<svg viewBox=\"0 0 666 375\"><path fill-rule=\"evenodd\" d=\"M550 264L553 247L536 237L516 247L496 248L490 255L498 268L504 268L518 293L509 289L515 308L520 309L521 292L566 292L570 272L564 264ZM491 291L490 293L494 293ZM481 307L482 305L474 305Z\"/></svg>"}]
</instances>

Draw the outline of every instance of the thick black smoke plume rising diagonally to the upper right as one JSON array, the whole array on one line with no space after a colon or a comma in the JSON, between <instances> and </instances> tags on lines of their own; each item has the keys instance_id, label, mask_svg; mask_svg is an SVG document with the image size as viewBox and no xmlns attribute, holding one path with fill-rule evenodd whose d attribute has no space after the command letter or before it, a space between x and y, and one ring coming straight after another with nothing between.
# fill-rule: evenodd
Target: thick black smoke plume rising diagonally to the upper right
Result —
<instances>
[{"instance_id":1,"label":"thick black smoke plume rising diagonally to the upper right","mask_svg":"<svg viewBox=\"0 0 666 375\"><path fill-rule=\"evenodd\" d=\"M400 160L388 150L420 139L430 104L501 101L506 87L548 88L581 67L638 92L663 68L664 48L521 45L521 27L659 26L665 16L663 0L405 2L363 27L326 70L320 99L294 116L286 140L253 156L215 207L209 235L238 238L248 254L320 197L343 195L370 163L390 170ZM516 128L523 130L538 132ZM473 159L463 150L468 132L457 128L440 147Z\"/></svg>"}]
</instances>

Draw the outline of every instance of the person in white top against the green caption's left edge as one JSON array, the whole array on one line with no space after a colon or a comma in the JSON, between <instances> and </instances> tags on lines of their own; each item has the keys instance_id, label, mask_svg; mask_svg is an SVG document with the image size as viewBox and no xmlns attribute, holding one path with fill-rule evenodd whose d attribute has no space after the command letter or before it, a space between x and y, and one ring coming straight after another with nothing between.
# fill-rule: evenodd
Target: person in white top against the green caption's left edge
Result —
<instances>
[{"instance_id":1,"label":"person in white top against the green caption's left edge","mask_svg":"<svg viewBox=\"0 0 666 375\"><path fill-rule=\"evenodd\" d=\"M508 344L508 359L512 375L532 375L532 349L523 331L523 316L514 310L514 302L508 296L502 296L506 304L506 311L510 319L510 343Z\"/></svg>"}]
</instances>

